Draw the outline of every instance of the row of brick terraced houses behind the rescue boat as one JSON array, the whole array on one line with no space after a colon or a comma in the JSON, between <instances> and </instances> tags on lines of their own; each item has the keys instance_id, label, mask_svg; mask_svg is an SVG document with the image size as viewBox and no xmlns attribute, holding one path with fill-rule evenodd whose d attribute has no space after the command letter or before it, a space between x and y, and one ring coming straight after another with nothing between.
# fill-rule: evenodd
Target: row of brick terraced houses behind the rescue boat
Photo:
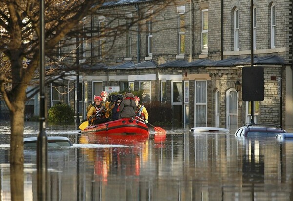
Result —
<instances>
[{"instance_id":1,"label":"row of brick terraced houses behind the rescue boat","mask_svg":"<svg viewBox=\"0 0 293 201\"><path fill-rule=\"evenodd\" d=\"M251 122L252 109L256 123L292 128L292 1L166 2L113 1L81 21L92 32L74 39L77 60L66 62L82 68L78 80L63 80L77 81L79 90L61 95L64 89L51 84L48 106L61 101L77 110L79 101L82 119L93 95L142 89L143 103L172 105L176 125L241 125ZM118 24L124 29L115 31ZM242 101L235 87L251 56L253 67L264 69L263 101Z\"/></svg>"}]
</instances>

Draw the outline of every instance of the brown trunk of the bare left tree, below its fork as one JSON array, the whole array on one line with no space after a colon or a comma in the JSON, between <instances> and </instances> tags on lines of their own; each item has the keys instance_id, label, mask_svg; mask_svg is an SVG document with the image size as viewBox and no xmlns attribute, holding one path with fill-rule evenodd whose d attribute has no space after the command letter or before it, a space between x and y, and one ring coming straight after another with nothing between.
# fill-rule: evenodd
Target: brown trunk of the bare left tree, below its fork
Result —
<instances>
[{"instance_id":1,"label":"brown trunk of the bare left tree, below its fork","mask_svg":"<svg viewBox=\"0 0 293 201\"><path fill-rule=\"evenodd\" d=\"M25 101L15 101L10 112L10 192L11 201L24 201L23 131Z\"/></svg>"}]
</instances>

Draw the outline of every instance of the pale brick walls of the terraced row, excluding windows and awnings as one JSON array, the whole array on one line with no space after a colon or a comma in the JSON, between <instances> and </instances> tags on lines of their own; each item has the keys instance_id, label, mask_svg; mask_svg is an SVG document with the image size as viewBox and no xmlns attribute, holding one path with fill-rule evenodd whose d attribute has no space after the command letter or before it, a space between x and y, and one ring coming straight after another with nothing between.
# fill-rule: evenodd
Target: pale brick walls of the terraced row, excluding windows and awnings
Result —
<instances>
[{"instance_id":1,"label":"pale brick walls of the terraced row, excluding windows and awnings","mask_svg":"<svg viewBox=\"0 0 293 201\"><path fill-rule=\"evenodd\" d=\"M118 24L125 24L127 18L137 19L138 16L146 16L154 12L152 17L152 54L148 54L146 26L147 19L140 20L131 26L131 31L121 30L116 38L109 32L109 36L103 36L103 48L101 50L101 38L86 41L85 57L83 63L105 64L105 68L93 69L90 65L86 70L80 72L80 83L82 84L82 118L85 115L85 107L90 104L93 97L93 81L101 81L102 89L106 86L121 86L122 82L134 82L134 90L140 89L141 81L150 81L151 101L161 100L161 83L166 81L166 100L175 107L182 105L180 110L182 125L196 125L195 106L195 81L206 81L206 126L229 127L232 120L229 120L229 93L235 91L235 82L242 80L241 69L249 66L249 63L230 63L226 66L219 65L212 61L220 61L229 58L245 59L251 56L251 1L250 0L229 0L223 1L223 20L221 23L221 0L192 0L175 1L168 4L160 12L156 9L164 2L154 1L124 5L114 5L106 7L97 12L96 16L88 17L84 20L85 27L97 28L101 24L118 27ZM253 54L258 58L267 56L277 56L279 61L258 61L254 63L264 67L264 101L259 102L257 115L258 123L282 124L292 128L292 105L286 104L286 96L292 98L292 85L286 86L288 80L292 80L290 72L292 65L292 2L288 0L254 0L256 7L256 49ZM275 6L275 47L271 47L271 8ZM208 50L202 50L202 11L208 9ZM235 10L239 11L239 50L234 50L235 30L234 17ZM117 13L113 19L113 13ZM178 16L182 14L184 26L178 29ZM191 18L190 18L191 15ZM128 19L129 20L129 19ZM112 22L109 24L109 22ZM223 27L221 27L221 24ZM106 25L105 25L106 27ZM110 29L111 30L111 29ZM221 34L221 30L223 30ZM179 31L184 32L184 54L179 54ZM127 33L127 34L126 34ZM97 33L95 33L97 34ZM127 55L126 37L131 36L131 51ZM101 42L101 41L100 41ZM69 50L64 50L68 52ZM100 53L102 55L100 55ZM161 64L174 60L184 60L187 63L207 59L209 62L199 66L164 66ZM152 61L155 67L125 68L118 69L115 66L131 61L133 65ZM68 61L69 62L69 61ZM74 62L74 61L73 61ZM289 70L288 70L289 69ZM292 70L291 70L292 72ZM278 78L282 78L282 100L278 93ZM70 80L70 81L74 81ZM174 82L189 82L188 103L174 103L172 95L174 93L172 84ZM86 87L85 87L86 86ZM84 89L87 89L85 92ZM217 91L219 94L216 95ZM184 93L184 87L182 92ZM68 102L73 104L73 92L68 96ZM218 97L219 96L219 97ZM69 100L70 99L70 100ZM282 101L280 103L280 101ZM247 102L242 101L242 91L237 96L237 126L248 121ZM76 104L74 104L75 106ZM188 105L188 118L184 112ZM281 105L281 107L280 107ZM200 106L198 106L200 107ZM216 114L216 108L218 114ZM280 109L282 108L282 109ZM282 111L282 113L280 112ZM290 115L291 114L291 115ZM280 118L282 115L282 118ZM217 117L218 116L218 117ZM231 117L234 117L233 115ZM189 122L184 122L187 118ZM218 120L216 121L216 118ZM228 121L231 121L228 123ZM217 123L218 122L218 123ZM233 121L234 122L234 121Z\"/></svg>"}]
</instances>

